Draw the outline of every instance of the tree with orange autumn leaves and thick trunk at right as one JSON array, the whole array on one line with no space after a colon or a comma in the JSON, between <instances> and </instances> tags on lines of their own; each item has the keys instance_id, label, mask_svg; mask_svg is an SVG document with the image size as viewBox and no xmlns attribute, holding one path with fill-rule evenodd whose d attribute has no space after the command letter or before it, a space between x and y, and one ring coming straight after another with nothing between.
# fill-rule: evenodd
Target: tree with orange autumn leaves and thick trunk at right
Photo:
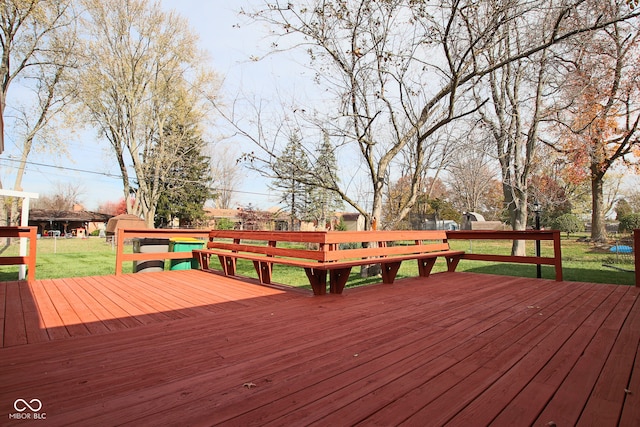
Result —
<instances>
[{"instance_id":1,"label":"tree with orange autumn leaves and thick trunk at right","mask_svg":"<svg viewBox=\"0 0 640 427\"><path fill-rule=\"evenodd\" d=\"M558 111L559 142L566 155L565 173L574 182L591 184L591 239L607 238L604 180L616 164L635 172L640 155L640 30L638 22L617 23L576 44L573 68L562 93L566 108Z\"/></svg>"}]
</instances>

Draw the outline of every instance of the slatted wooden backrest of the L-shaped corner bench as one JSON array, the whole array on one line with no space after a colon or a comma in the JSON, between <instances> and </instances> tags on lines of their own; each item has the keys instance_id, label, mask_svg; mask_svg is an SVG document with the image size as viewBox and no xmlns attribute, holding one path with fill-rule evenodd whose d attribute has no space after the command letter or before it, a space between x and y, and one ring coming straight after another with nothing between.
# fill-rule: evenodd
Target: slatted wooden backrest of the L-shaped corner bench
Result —
<instances>
[{"instance_id":1,"label":"slatted wooden backrest of the L-shaped corner bench","mask_svg":"<svg viewBox=\"0 0 640 427\"><path fill-rule=\"evenodd\" d=\"M286 243L291 247L278 247ZM208 249L330 262L449 250L443 230L234 231L213 230Z\"/></svg>"}]
</instances>

